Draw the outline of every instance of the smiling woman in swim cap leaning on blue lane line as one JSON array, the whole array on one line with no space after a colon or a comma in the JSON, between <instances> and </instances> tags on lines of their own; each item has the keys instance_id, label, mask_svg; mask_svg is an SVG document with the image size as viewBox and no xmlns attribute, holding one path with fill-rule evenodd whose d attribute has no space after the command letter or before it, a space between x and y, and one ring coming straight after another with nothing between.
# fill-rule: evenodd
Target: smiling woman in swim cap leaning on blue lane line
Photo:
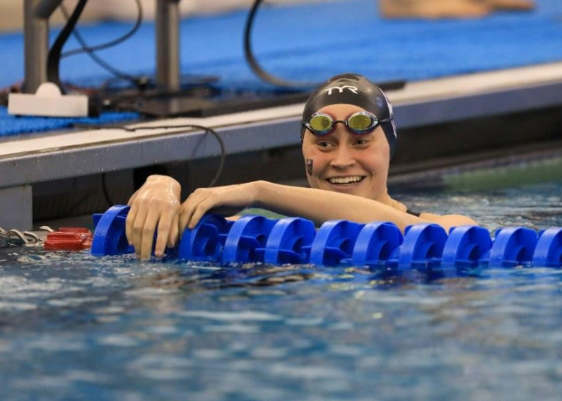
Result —
<instances>
[{"instance_id":1,"label":"smiling woman in swim cap leaning on blue lane line","mask_svg":"<svg viewBox=\"0 0 562 401\"><path fill-rule=\"evenodd\" d=\"M397 133L392 106L385 94L357 74L334 76L305 104L300 138L310 188L253 181L199 188L180 203L180 184L169 176L150 176L131 199L127 238L142 259L174 246L185 227L193 228L210 211L233 212L247 207L305 217L320 226L327 220L431 222L449 229L475 225L462 215L413 213L390 197L387 177Z\"/></svg>"}]
</instances>

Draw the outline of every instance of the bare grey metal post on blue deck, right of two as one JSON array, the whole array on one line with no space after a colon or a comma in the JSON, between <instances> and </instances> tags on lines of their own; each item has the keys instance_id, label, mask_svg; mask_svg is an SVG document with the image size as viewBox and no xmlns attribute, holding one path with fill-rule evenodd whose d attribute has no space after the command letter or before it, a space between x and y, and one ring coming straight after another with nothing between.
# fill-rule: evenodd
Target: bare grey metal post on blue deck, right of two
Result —
<instances>
[{"instance_id":1,"label":"bare grey metal post on blue deck, right of two","mask_svg":"<svg viewBox=\"0 0 562 401\"><path fill-rule=\"evenodd\" d=\"M180 0L156 2L156 83L180 89Z\"/></svg>"}]
</instances>

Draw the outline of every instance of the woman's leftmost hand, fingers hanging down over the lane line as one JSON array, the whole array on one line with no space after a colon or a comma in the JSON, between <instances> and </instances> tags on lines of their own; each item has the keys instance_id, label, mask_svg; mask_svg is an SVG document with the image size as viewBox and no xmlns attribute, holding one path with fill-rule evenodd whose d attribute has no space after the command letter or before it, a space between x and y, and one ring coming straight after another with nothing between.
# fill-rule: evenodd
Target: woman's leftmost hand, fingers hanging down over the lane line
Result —
<instances>
[{"instance_id":1,"label":"woman's leftmost hand, fingers hanging down over the lane line","mask_svg":"<svg viewBox=\"0 0 562 401\"><path fill-rule=\"evenodd\" d=\"M129 199L127 239L141 260L151 257L157 227L156 256L163 256L165 246L171 248L177 243L180 193L180 183L172 177L152 175Z\"/></svg>"}]
</instances>

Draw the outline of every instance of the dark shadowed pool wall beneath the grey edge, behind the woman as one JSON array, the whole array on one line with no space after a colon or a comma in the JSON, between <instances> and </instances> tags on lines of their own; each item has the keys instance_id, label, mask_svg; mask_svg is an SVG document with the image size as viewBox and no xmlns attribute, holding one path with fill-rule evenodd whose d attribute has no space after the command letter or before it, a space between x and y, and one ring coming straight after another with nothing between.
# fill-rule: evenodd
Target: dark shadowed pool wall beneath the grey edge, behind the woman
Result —
<instances>
[{"instance_id":1,"label":"dark shadowed pool wall beneath the grey edge, behind the woman","mask_svg":"<svg viewBox=\"0 0 562 401\"><path fill-rule=\"evenodd\" d=\"M445 177L455 172L482 167L493 171L505 165L559 157L561 127L562 109L555 108L399 129L399 147L390 167L390 192L416 188L441 190L451 186ZM453 135L458 139L451 140ZM35 222L41 222L98 213L110 205L127 203L135 188L150 174L175 177L182 184L182 198L186 198L194 188L209 185L218 163L219 158L213 157L34 184L33 216ZM552 174L531 174L528 179L552 178ZM228 155L217 185L258 179L308 185L300 146ZM104 195L103 183L111 203ZM503 184L517 184L517 181ZM459 181L454 188L479 189L459 186Z\"/></svg>"}]
</instances>

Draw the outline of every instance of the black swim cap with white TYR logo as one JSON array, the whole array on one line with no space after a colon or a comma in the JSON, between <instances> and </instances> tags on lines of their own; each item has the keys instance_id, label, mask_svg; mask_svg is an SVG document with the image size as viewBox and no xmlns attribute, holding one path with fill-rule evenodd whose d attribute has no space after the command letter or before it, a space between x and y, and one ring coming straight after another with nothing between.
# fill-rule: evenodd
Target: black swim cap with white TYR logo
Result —
<instances>
[{"instance_id":1,"label":"black swim cap with white TYR logo","mask_svg":"<svg viewBox=\"0 0 562 401\"><path fill-rule=\"evenodd\" d=\"M392 116L392 104L388 101L385 92L370 80L356 73L345 73L329 78L308 97L303 112L303 122L307 122L312 114L329 104L355 104L367 112L375 114L379 120ZM385 131L390 145L390 157L396 150L396 125L393 121L380 124ZM300 139L303 140L305 127L301 128Z\"/></svg>"}]
</instances>

